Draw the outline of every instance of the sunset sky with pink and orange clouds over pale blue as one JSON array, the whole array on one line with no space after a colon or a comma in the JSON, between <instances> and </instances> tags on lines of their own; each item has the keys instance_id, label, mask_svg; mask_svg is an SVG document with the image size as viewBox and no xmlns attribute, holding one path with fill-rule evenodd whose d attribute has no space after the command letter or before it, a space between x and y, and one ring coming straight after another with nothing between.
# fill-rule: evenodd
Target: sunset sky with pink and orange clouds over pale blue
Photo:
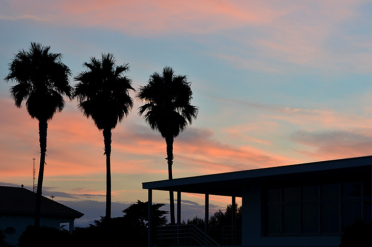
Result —
<instances>
[{"instance_id":1,"label":"sunset sky with pink and orange clouds over pale blue","mask_svg":"<svg viewBox=\"0 0 372 247\"><path fill-rule=\"evenodd\" d=\"M0 185L33 187L38 122L18 109L9 63L30 42L63 54L73 77L90 57L129 63L134 88L171 66L192 83L193 124L174 141L173 177L370 155L372 2L123 1L0 2ZM147 201L142 182L165 180L166 144L138 115L113 130L113 216ZM104 215L103 136L67 101L48 123L43 195ZM168 203L167 192L153 201ZM204 196L182 194L182 218L204 215ZM210 210L231 199L210 197ZM240 200L237 200L241 203ZM166 207L165 207L166 209Z\"/></svg>"}]
</instances>

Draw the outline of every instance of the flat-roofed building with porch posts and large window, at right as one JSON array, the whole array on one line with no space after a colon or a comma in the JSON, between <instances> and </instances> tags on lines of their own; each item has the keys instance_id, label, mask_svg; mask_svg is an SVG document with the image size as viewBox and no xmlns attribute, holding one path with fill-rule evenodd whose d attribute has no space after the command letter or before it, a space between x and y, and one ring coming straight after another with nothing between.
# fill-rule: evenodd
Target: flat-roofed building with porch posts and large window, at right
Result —
<instances>
[{"instance_id":1,"label":"flat-roofed building with porch posts and large window, at right","mask_svg":"<svg viewBox=\"0 0 372 247\"><path fill-rule=\"evenodd\" d=\"M371 220L372 156L143 183L152 190L242 197L242 245L338 246L342 227ZM177 205L180 221L181 204ZM151 239L151 236L150 238ZM149 242L149 246L151 242Z\"/></svg>"}]
</instances>

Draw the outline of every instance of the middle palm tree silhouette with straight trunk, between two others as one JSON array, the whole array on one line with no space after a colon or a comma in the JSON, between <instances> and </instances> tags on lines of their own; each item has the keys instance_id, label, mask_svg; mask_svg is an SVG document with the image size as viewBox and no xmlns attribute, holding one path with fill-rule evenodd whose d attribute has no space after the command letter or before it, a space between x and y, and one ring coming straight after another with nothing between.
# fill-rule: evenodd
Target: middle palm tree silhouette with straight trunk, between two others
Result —
<instances>
[{"instance_id":1,"label":"middle palm tree silhouette with straight trunk, between two others","mask_svg":"<svg viewBox=\"0 0 372 247\"><path fill-rule=\"evenodd\" d=\"M122 76L129 71L129 65L117 66L112 54L102 54L102 59L95 57L84 63L88 71L75 77L78 83L73 93L79 102L78 107L86 117L91 117L94 124L103 133L104 154L106 155L106 214L107 241L110 242L109 229L111 219L111 136L112 129L127 116L133 107L129 96L131 80ZM110 244L107 242L108 244Z\"/></svg>"}]
</instances>

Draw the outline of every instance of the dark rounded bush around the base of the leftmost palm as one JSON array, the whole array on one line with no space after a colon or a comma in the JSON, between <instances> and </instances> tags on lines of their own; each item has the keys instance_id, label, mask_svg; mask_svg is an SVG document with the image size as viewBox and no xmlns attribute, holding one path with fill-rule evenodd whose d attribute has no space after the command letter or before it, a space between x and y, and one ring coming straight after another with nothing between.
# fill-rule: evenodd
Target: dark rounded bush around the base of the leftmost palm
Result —
<instances>
[{"instance_id":1,"label":"dark rounded bush around the base of the leftmost palm","mask_svg":"<svg viewBox=\"0 0 372 247\"><path fill-rule=\"evenodd\" d=\"M35 234L34 226L28 226L18 238L19 247L29 247L33 242ZM40 227L40 247L63 247L69 244L69 233L66 230L58 230L54 227Z\"/></svg>"}]
</instances>

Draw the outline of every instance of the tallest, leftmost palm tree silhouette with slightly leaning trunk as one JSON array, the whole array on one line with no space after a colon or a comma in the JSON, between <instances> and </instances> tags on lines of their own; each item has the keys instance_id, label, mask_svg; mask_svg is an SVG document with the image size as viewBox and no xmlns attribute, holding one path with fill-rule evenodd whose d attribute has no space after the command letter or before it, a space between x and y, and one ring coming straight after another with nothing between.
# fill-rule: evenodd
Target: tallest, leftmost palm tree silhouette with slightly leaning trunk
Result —
<instances>
[{"instance_id":1,"label":"tallest, leftmost palm tree silhouette with slightly leaning trunk","mask_svg":"<svg viewBox=\"0 0 372 247\"><path fill-rule=\"evenodd\" d=\"M9 64L5 78L17 84L10 88L15 105L21 108L25 101L32 118L39 120L40 167L36 192L35 229L40 227L40 204L44 178L46 133L48 120L65 106L63 95L72 98L69 83L70 69L61 62L60 53L50 53L50 46L31 43L28 51L21 50ZM36 234L37 244L38 234Z\"/></svg>"}]
</instances>

